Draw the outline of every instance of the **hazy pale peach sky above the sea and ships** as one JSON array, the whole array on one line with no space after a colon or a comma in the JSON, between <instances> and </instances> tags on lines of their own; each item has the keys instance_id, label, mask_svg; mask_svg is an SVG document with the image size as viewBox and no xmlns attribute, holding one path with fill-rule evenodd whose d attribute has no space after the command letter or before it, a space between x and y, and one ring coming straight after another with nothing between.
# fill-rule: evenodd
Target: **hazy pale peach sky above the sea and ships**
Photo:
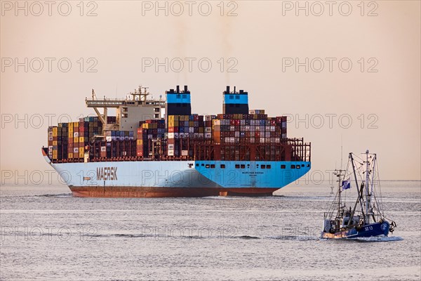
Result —
<instances>
[{"instance_id":1,"label":"hazy pale peach sky above the sea and ships","mask_svg":"<svg viewBox=\"0 0 421 281\"><path fill-rule=\"evenodd\" d=\"M49 169L48 116L92 114L91 89L187 84L192 111L217 114L229 84L291 117L312 171L339 168L342 140L344 159L377 152L382 179L421 178L420 1L79 2L1 1L1 170Z\"/></svg>"}]
</instances>

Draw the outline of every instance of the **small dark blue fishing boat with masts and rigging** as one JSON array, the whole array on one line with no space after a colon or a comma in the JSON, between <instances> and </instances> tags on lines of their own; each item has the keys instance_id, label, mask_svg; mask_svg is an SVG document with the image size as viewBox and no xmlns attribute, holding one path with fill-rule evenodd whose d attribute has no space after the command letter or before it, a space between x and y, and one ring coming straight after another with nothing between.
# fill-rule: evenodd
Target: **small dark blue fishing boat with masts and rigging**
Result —
<instances>
[{"instance_id":1,"label":"small dark blue fishing boat with masts and rigging","mask_svg":"<svg viewBox=\"0 0 421 281\"><path fill-rule=\"evenodd\" d=\"M362 157L349 153L347 168L335 170L335 175L338 192L324 214L321 238L376 237L393 233L396 223L383 213L376 155L368 150ZM357 193L356 200L347 204L347 192L353 190Z\"/></svg>"}]
</instances>

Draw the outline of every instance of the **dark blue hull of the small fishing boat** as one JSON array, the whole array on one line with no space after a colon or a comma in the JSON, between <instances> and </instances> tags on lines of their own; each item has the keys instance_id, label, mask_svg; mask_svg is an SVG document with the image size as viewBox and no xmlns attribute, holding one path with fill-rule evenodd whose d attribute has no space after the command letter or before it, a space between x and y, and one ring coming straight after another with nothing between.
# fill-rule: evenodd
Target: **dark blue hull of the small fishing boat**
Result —
<instances>
[{"instance_id":1,"label":"dark blue hull of the small fishing boat","mask_svg":"<svg viewBox=\"0 0 421 281\"><path fill-rule=\"evenodd\" d=\"M337 233L321 233L321 238L341 239L341 238L359 238L359 237L373 237L380 235L389 235L390 223L382 221L381 223L370 223L361 228L350 228L338 231Z\"/></svg>"}]
</instances>

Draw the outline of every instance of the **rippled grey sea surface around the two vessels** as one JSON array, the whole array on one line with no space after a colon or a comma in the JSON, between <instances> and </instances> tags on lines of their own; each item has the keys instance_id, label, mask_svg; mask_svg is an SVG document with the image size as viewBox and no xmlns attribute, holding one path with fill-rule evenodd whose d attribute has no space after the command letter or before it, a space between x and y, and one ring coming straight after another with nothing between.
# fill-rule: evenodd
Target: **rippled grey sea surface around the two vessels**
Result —
<instances>
[{"instance_id":1,"label":"rippled grey sea surface around the two vessels","mask_svg":"<svg viewBox=\"0 0 421 281\"><path fill-rule=\"evenodd\" d=\"M353 241L319 239L329 185L260 198L77 198L62 186L0 195L0 280L421 279L420 181L382 182L398 228Z\"/></svg>"}]
</instances>

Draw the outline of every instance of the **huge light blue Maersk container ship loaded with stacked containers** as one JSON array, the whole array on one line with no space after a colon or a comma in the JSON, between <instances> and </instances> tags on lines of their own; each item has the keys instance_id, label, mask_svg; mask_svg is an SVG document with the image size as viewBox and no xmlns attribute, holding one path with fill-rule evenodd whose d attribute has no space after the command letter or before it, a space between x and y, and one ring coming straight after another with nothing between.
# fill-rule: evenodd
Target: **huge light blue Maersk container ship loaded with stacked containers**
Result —
<instances>
[{"instance_id":1,"label":"huge light blue Maersk container ship loaded with stacked containers","mask_svg":"<svg viewBox=\"0 0 421 281\"><path fill-rule=\"evenodd\" d=\"M149 96L92 90L94 116L48 127L42 154L74 196L272 195L311 168L311 143L287 137L285 116L249 110L246 91L227 86L218 115L192 114L187 86Z\"/></svg>"}]
</instances>

